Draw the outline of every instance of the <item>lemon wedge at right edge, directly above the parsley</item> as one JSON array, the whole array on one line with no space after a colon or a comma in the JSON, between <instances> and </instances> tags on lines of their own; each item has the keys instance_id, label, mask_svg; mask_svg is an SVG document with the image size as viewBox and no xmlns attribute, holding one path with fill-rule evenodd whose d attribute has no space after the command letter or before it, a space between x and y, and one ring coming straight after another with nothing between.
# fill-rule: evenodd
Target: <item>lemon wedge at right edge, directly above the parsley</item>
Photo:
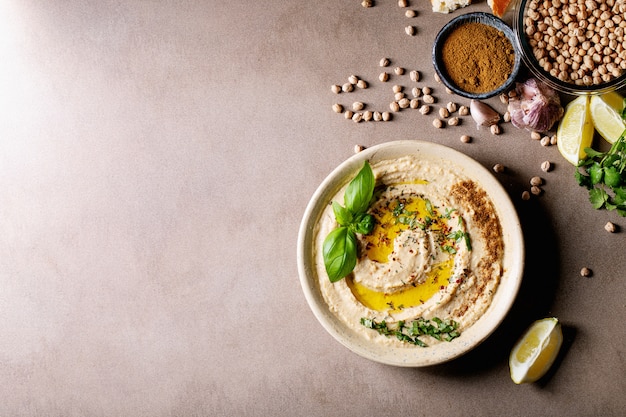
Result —
<instances>
[{"instance_id":1,"label":"lemon wedge at right edge, directly above the parsley","mask_svg":"<svg viewBox=\"0 0 626 417\"><path fill-rule=\"evenodd\" d=\"M626 129L621 113L624 108L624 98L618 93L606 93L592 96L591 120L598 133L608 142L615 142Z\"/></svg>"}]
</instances>

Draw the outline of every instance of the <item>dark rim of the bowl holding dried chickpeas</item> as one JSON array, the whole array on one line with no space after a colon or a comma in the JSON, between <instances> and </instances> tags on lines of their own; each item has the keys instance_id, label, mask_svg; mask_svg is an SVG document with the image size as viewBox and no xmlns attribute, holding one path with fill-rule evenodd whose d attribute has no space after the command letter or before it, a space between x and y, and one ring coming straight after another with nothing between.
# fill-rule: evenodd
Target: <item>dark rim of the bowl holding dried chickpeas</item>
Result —
<instances>
[{"instance_id":1,"label":"dark rim of the bowl holding dried chickpeas","mask_svg":"<svg viewBox=\"0 0 626 417\"><path fill-rule=\"evenodd\" d=\"M522 56L522 60L530 72L540 81L549 87L565 94L584 95L584 94L604 94L610 91L619 90L626 86L626 72L620 77L615 78L606 83L598 85L576 85L559 80L545 71L539 61L534 57L532 48L526 39L524 31L524 16L526 15L526 5L529 0L515 0L515 13L513 16L513 32L515 33L515 43L518 51Z\"/></svg>"}]
</instances>

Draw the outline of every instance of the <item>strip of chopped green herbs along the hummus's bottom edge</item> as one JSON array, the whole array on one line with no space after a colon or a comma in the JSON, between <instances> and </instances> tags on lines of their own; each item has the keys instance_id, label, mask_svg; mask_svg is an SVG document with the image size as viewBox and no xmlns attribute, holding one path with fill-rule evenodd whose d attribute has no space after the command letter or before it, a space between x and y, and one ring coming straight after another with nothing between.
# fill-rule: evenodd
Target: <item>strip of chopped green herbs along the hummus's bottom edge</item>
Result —
<instances>
[{"instance_id":1,"label":"strip of chopped green herbs along the hummus's bottom edge","mask_svg":"<svg viewBox=\"0 0 626 417\"><path fill-rule=\"evenodd\" d=\"M431 323L434 323L432 324ZM420 339L420 336L432 336L437 340L450 342L461 335L457 330L459 323L452 319L442 320L433 317L431 320L418 318L407 324L400 320L395 327L390 327L385 320L376 321L366 317L361 318L361 324L368 329L376 330L379 334L387 337L395 336L398 340L421 347L428 345Z\"/></svg>"}]
</instances>

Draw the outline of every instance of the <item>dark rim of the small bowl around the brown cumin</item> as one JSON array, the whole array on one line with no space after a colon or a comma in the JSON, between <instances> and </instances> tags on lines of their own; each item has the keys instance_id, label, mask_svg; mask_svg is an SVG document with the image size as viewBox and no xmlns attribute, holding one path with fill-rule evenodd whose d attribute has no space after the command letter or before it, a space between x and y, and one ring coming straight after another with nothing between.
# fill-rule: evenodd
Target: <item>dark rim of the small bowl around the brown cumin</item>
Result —
<instances>
[{"instance_id":1,"label":"dark rim of the small bowl around the brown cumin","mask_svg":"<svg viewBox=\"0 0 626 417\"><path fill-rule=\"evenodd\" d=\"M447 39L447 37L450 35L450 33L454 29L456 29L458 26L460 26L463 23L469 23L469 22L482 23L482 24L491 26L495 29L498 29L499 31L504 33L504 35L507 37L509 42L511 42L511 47L515 51L515 61L513 63L513 69L511 71L511 74L509 75L509 78L507 78L507 80L495 90L487 91L485 93L470 93L468 91L462 90L455 83L453 83L452 80L449 79L448 74L445 71L445 66L442 62L442 57L441 57L442 43ZM513 32L511 27L507 25L504 22L504 20L500 19L499 17L491 13L486 13L486 12L465 13L465 14L461 14L453 18L439 30L439 32L437 33L435 37L435 41L433 42L433 48L432 48L433 66L435 68L435 72L437 73L437 75L439 76L443 84L446 87L448 87L450 90L452 90L455 94L458 94L465 98L476 99L476 100L483 100L483 99L496 96L511 88L521 68L521 56L520 55L521 55L520 51L517 48L515 33Z\"/></svg>"}]
</instances>

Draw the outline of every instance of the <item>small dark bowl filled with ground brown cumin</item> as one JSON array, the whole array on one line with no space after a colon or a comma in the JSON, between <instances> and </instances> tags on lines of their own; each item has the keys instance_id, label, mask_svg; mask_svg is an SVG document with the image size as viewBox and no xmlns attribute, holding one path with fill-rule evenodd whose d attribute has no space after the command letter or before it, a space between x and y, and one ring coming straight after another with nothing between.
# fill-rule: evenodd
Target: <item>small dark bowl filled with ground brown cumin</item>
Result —
<instances>
[{"instance_id":1,"label":"small dark bowl filled with ground brown cumin","mask_svg":"<svg viewBox=\"0 0 626 417\"><path fill-rule=\"evenodd\" d=\"M491 13L467 13L437 34L432 51L435 72L455 94L486 99L511 88L521 56L513 30Z\"/></svg>"}]
</instances>

